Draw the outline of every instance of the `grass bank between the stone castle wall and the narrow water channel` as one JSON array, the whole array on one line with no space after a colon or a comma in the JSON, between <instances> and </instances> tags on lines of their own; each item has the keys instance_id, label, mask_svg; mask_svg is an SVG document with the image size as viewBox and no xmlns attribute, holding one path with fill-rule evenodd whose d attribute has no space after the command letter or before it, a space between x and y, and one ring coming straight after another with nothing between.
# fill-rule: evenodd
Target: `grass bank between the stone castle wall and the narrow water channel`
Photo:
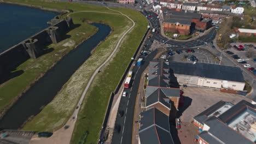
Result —
<instances>
[{"instance_id":1,"label":"grass bank between the stone castle wall and the narrow water channel","mask_svg":"<svg viewBox=\"0 0 256 144\"><path fill-rule=\"evenodd\" d=\"M24 70L24 73L0 85L0 111L3 111L6 106L13 103L18 95L32 85L38 77L42 76L64 55L73 50L75 45L78 45L83 40L88 39L91 35L96 33L96 27L80 22L78 17L75 17L73 20L75 24L80 26L67 33L67 35L71 36L70 38L62 40L58 44L49 45L48 49L53 48L54 51L40 56L37 59L28 59L26 62L19 65L16 70ZM63 46L64 44L66 44L66 46Z\"/></svg>"}]
</instances>

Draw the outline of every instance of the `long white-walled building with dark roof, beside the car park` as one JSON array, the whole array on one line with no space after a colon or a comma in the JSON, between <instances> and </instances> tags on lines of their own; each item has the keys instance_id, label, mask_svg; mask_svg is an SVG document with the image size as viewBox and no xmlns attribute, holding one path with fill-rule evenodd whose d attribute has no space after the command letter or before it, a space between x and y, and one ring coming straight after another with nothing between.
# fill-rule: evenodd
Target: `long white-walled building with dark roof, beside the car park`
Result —
<instances>
[{"instance_id":1,"label":"long white-walled building with dark roof, beside the car park","mask_svg":"<svg viewBox=\"0 0 256 144\"><path fill-rule=\"evenodd\" d=\"M238 67L206 63L169 62L180 85L226 88L243 91L245 80Z\"/></svg>"}]
</instances>

